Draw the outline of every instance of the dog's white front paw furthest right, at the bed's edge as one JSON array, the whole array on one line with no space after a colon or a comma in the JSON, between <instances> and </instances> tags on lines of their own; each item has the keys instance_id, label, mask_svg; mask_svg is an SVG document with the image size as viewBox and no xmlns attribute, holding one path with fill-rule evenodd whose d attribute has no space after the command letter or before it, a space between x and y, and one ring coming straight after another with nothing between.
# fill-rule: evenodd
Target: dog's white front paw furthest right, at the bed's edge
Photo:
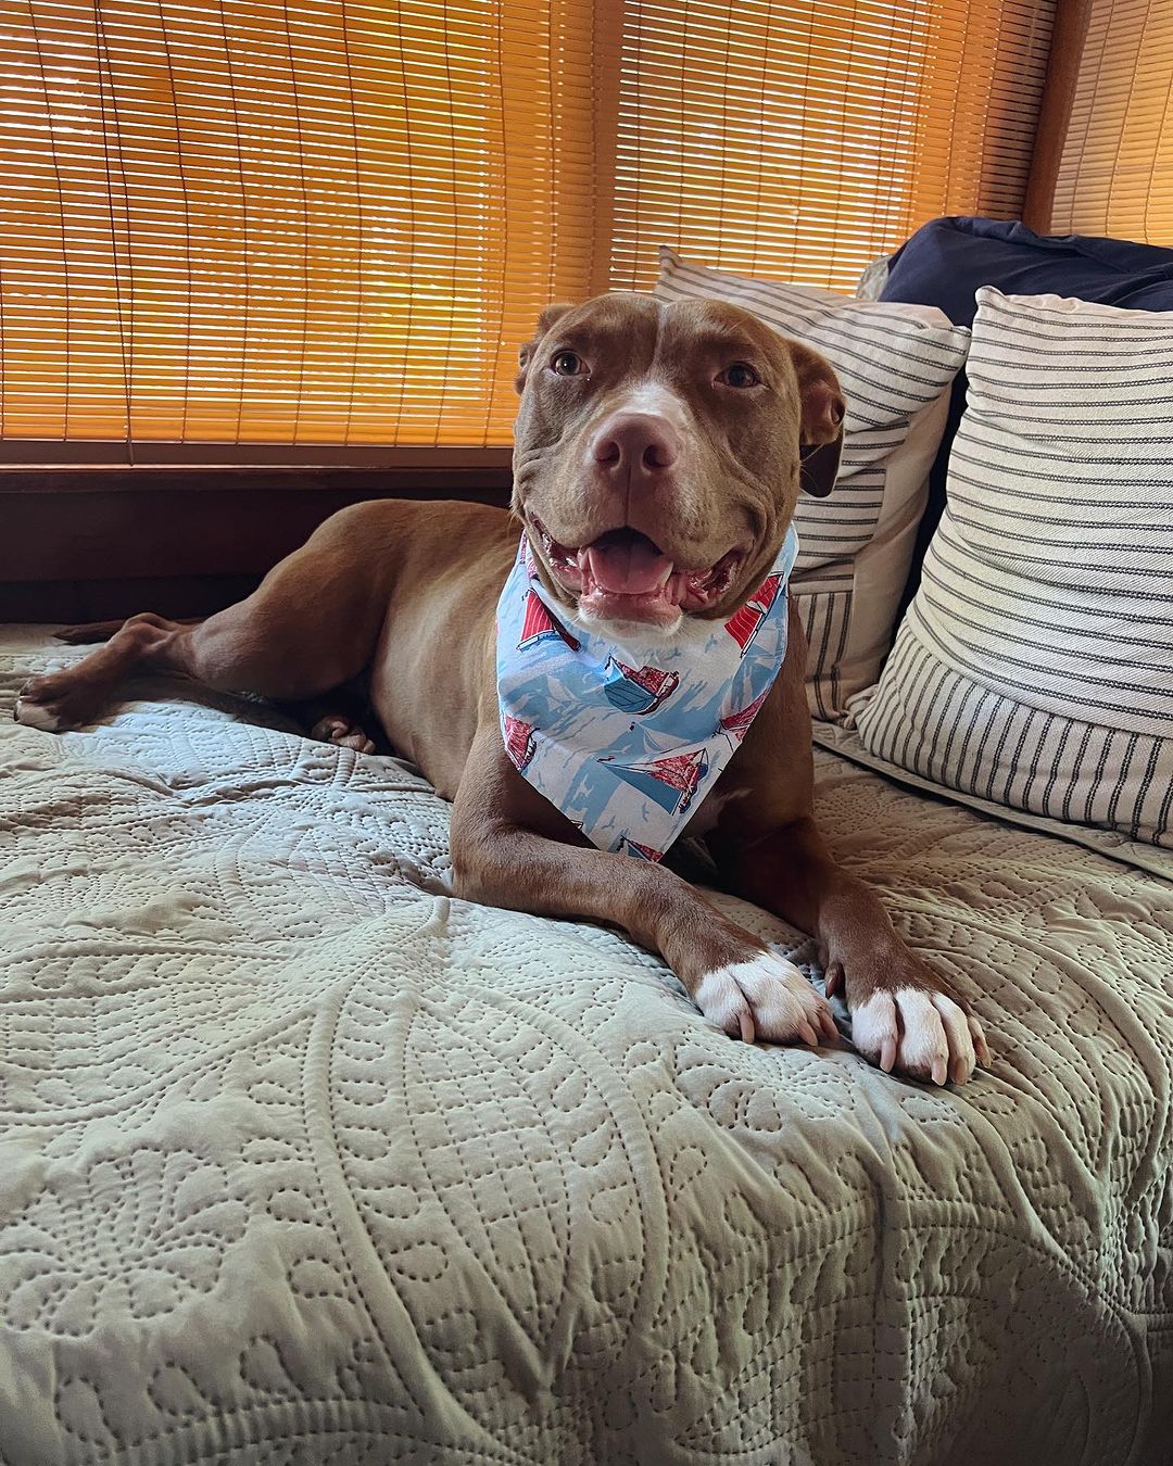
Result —
<instances>
[{"instance_id":1,"label":"dog's white front paw furthest right, at the bed's edge","mask_svg":"<svg viewBox=\"0 0 1173 1466\"><path fill-rule=\"evenodd\" d=\"M872 992L852 1009L852 1042L884 1073L952 1079L963 1085L981 1061L990 1063L981 1023L946 997L924 988Z\"/></svg>"}]
</instances>

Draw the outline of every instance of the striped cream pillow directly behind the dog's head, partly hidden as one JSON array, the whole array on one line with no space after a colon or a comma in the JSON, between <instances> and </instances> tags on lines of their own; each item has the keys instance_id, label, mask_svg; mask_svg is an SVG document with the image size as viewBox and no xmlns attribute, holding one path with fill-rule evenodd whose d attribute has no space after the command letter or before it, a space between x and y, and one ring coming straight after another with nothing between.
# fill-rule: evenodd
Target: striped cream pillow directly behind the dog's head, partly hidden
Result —
<instances>
[{"instance_id":1,"label":"striped cream pillow directly behind the dog's head, partly hidden","mask_svg":"<svg viewBox=\"0 0 1173 1466\"><path fill-rule=\"evenodd\" d=\"M790 588L806 627L806 693L818 718L846 715L891 645L949 384L969 333L927 306L881 305L806 286L746 280L660 251L661 301L713 298L752 311L823 352L847 402L828 498L802 496Z\"/></svg>"}]
</instances>

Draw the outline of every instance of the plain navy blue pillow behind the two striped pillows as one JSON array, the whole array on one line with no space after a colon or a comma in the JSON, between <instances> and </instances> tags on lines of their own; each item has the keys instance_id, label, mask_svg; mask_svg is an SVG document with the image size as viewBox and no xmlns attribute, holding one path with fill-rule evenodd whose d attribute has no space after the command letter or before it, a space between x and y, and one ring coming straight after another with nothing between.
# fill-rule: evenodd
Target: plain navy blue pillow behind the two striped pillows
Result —
<instances>
[{"instance_id":1,"label":"plain navy blue pillow behind the two striped pillows","mask_svg":"<svg viewBox=\"0 0 1173 1466\"><path fill-rule=\"evenodd\" d=\"M934 218L889 262L881 301L935 305L955 325L972 325L974 293L1066 295L1130 311L1173 311L1173 249L1088 235L1044 236L999 218ZM953 434L965 412L965 372L953 383L949 421L930 475L928 507L916 535L900 613L921 579L921 560L944 509Z\"/></svg>"}]
</instances>

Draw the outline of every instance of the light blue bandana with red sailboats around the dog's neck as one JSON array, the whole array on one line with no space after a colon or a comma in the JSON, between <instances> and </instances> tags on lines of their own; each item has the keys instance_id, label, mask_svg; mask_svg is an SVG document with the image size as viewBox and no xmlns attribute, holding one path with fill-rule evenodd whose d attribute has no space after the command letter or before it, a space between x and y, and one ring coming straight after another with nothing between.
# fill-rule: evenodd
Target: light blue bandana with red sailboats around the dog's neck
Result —
<instances>
[{"instance_id":1,"label":"light blue bandana with red sailboats around the dog's neck","mask_svg":"<svg viewBox=\"0 0 1173 1466\"><path fill-rule=\"evenodd\" d=\"M786 657L796 554L792 525L727 622L686 617L672 641L639 644L569 623L522 535L497 605L501 737L592 844L658 861L699 809Z\"/></svg>"}]
</instances>

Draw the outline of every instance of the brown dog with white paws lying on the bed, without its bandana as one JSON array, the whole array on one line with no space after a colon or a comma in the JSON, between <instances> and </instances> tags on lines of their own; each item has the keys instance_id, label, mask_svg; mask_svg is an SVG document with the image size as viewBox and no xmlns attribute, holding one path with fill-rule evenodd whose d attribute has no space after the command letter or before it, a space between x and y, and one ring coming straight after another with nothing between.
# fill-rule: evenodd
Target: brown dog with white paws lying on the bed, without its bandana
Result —
<instances>
[{"instance_id":1,"label":"brown dog with white paws lying on the bed, without its bandana","mask_svg":"<svg viewBox=\"0 0 1173 1466\"><path fill-rule=\"evenodd\" d=\"M147 667L286 701L365 676L391 745L455 802L457 896L617 922L732 1035L833 1038L798 968L670 869L589 846L518 773L499 726L494 613L521 520L569 625L672 641L688 622L729 619L773 564L799 488L830 490L834 374L735 306L608 295L545 311L518 386L516 517L456 503L343 510L239 605L198 626L132 617L76 667L35 677L18 717L76 727ZM688 833L730 890L818 938L862 1054L962 1083L990 1061L978 1020L815 830L806 648L789 614L784 664ZM367 746L342 715L318 733Z\"/></svg>"}]
</instances>

